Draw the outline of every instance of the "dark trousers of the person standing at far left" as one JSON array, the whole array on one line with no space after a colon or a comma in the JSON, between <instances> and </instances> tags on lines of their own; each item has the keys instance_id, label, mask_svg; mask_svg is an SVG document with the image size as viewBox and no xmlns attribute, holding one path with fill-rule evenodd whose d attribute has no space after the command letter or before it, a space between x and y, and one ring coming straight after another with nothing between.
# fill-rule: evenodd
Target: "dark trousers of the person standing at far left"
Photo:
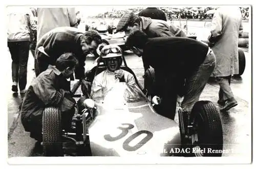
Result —
<instances>
[{"instance_id":1,"label":"dark trousers of the person standing at far left","mask_svg":"<svg viewBox=\"0 0 256 169\"><path fill-rule=\"evenodd\" d=\"M12 81L18 82L19 90L24 90L27 85L29 43L29 41L8 42L12 57Z\"/></svg>"}]
</instances>

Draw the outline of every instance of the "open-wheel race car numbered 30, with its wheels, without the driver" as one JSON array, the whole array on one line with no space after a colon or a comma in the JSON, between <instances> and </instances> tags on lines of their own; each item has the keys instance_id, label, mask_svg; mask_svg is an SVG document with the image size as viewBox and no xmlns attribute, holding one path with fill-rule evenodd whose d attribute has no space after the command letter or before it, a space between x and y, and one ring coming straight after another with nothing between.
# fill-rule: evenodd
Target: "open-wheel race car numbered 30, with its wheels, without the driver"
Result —
<instances>
[{"instance_id":1,"label":"open-wheel race car numbered 30, with its wheels, without the driver","mask_svg":"<svg viewBox=\"0 0 256 169\"><path fill-rule=\"evenodd\" d=\"M151 95L154 70L146 71L144 89L123 56L122 59L121 69L134 75L136 85L119 82L104 97L91 99L88 95L88 99L82 101L85 108L78 108L73 118L76 119L74 132L62 129L58 108L45 108L42 117L44 156L222 155L222 123L219 110L212 102L197 102L189 120L180 108L177 124L154 109L157 104ZM86 80L92 82L105 69L100 56ZM73 93L80 83L74 85Z\"/></svg>"}]
</instances>

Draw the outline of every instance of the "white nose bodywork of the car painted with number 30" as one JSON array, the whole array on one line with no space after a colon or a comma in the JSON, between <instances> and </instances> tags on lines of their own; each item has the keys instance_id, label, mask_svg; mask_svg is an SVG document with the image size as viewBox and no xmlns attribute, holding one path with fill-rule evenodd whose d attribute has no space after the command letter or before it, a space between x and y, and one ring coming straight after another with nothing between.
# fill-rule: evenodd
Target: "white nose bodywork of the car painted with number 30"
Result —
<instances>
[{"instance_id":1,"label":"white nose bodywork of the car painted with number 30","mask_svg":"<svg viewBox=\"0 0 256 169\"><path fill-rule=\"evenodd\" d=\"M179 126L158 115L136 86L119 82L94 99L97 116L89 127L93 156L170 156L179 148Z\"/></svg>"}]
</instances>

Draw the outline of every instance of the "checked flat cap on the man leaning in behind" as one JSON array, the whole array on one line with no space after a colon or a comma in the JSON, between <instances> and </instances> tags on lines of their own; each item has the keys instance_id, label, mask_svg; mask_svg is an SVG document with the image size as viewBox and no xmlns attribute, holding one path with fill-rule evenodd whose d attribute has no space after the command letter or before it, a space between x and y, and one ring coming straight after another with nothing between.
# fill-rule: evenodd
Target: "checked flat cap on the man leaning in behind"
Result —
<instances>
[{"instance_id":1,"label":"checked flat cap on the man leaning in behind","mask_svg":"<svg viewBox=\"0 0 256 169\"><path fill-rule=\"evenodd\" d=\"M124 31L123 29L129 25L133 24L135 20L138 18L133 12L127 11L119 20L116 26L116 32Z\"/></svg>"}]
</instances>

